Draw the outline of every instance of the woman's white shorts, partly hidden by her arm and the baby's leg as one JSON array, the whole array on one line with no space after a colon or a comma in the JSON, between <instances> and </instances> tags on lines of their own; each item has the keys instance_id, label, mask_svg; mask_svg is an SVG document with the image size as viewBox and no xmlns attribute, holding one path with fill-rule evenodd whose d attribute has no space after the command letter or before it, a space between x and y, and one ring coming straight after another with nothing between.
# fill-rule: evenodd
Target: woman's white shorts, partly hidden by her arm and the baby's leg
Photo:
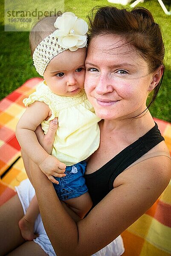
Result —
<instances>
[{"instance_id":1,"label":"woman's white shorts, partly hidden by her arm and the baby's leg","mask_svg":"<svg viewBox=\"0 0 171 256\"><path fill-rule=\"evenodd\" d=\"M25 214L27 208L29 207L30 201L35 195L35 189L33 188L29 179L23 180L19 186L15 187L15 189L17 191L18 197L20 199ZM40 214L38 215L38 218L35 221L35 233L39 234L39 236L36 237L36 239L34 239L33 241L36 244L39 244L41 248L44 250L44 252L47 253L49 256L56 256L52 244L43 227ZM123 245L122 237L118 236L106 247L99 250L97 253L93 254L93 256L120 256L124 253L124 251L125 248Z\"/></svg>"}]
</instances>

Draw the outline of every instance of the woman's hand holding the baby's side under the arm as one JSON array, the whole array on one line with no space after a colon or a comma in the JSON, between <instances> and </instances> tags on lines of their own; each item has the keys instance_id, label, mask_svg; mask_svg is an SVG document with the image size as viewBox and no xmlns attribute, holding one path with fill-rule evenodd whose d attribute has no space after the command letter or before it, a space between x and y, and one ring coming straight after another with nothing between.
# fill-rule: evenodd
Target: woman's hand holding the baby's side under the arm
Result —
<instances>
[{"instance_id":1,"label":"woman's hand holding the baby's side under the arm","mask_svg":"<svg viewBox=\"0 0 171 256\"><path fill-rule=\"evenodd\" d=\"M46 150L48 154L52 153L52 148L53 148L53 143L55 139L55 133L58 128L58 118L55 117L50 124L49 124L49 129L47 131L47 134L44 134L41 125L39 125L36 130L35 134L38 138L38 142L41 144L41 146Z\"/></svg>"}]
</instances>

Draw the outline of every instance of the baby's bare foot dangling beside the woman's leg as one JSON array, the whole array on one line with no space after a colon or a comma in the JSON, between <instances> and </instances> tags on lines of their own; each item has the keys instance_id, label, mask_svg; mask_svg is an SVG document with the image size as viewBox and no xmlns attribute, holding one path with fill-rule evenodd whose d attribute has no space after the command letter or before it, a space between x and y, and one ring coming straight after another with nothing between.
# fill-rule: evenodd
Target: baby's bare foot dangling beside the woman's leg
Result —
<instances>
[{"instance_id":1,"label":"baby's bare foot dangling beside the woman's leg","mask_svg":"<svg viewBox=\"0 0 171 256\"><path fill-rule=\"evenodd\" d=\"M38 236L34 233L34 225L35 224L31 221L28 221L25 216L20 219L20 221L18 222L18 226L20 228L23 239L32 241Z\"/></svg>"}]
</instances>

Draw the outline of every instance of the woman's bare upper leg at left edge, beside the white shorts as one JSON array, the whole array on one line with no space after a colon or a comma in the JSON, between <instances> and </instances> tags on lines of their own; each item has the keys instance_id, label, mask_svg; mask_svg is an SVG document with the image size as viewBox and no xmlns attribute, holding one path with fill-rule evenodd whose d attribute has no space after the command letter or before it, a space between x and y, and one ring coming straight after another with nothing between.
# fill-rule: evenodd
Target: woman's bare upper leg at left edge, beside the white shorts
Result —
<instances>
[{"instance_id":1,"label":"woman's bare upper leg at left edge, beside the white shorts","mask_svg":"<svg viewBox=\"0 0 171 256\"><path fill-rule=\"evenodd\" d=\"M18 227L23 207L17 195L0 207L0 255L6 255L25 242Z\"/></svg>"}]
</instances>

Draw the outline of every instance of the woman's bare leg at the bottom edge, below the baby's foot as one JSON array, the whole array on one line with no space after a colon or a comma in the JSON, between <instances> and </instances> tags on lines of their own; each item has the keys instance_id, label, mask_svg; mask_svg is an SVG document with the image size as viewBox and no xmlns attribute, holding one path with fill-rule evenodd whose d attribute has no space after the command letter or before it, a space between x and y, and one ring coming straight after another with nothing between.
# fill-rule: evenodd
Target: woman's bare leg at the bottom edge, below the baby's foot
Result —
<instances>
[{"instance_id":1,"label":"woman's bare leg at the bottom edge, below the baby's foot","mask_svg":"<svg viewBox=\"0 0 171 256\"><path fill-rule=\"evenodd\" d=\"M43 249L34 241L26 241L7 256L47 256Z\"/></svg>"}]
</instances>

